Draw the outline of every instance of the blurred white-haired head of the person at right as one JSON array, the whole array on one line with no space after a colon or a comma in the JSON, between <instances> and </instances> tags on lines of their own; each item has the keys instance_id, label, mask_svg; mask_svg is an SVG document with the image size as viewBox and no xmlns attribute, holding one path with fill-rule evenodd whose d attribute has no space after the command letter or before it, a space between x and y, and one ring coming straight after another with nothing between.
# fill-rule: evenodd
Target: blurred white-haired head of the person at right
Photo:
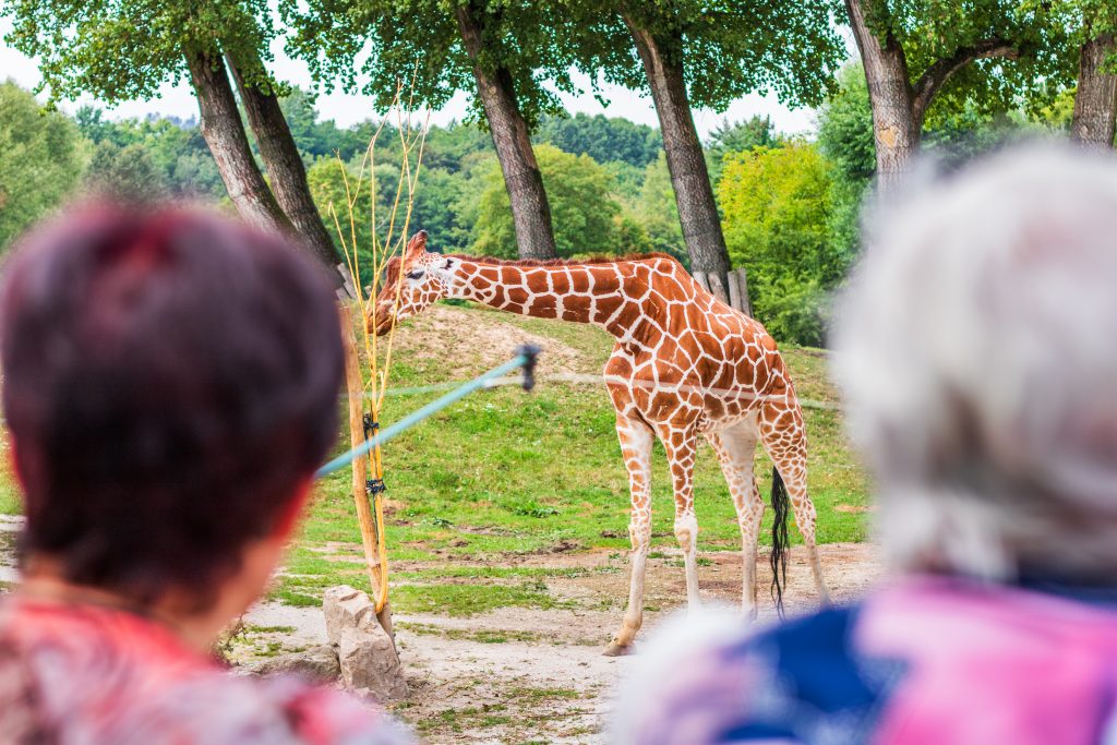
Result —
<instances>
[{"instance_id":1,"label":"blurred white-haired head of the person at right","mask_svg":"<svg viewBox=\"0 0 1117 745\"><path fill-rule=\"evenodd\" d=\"M834 370L914 571L1117 572L1117 162L1009 151L879 225Z\"/></svg>"}]
</instances>

